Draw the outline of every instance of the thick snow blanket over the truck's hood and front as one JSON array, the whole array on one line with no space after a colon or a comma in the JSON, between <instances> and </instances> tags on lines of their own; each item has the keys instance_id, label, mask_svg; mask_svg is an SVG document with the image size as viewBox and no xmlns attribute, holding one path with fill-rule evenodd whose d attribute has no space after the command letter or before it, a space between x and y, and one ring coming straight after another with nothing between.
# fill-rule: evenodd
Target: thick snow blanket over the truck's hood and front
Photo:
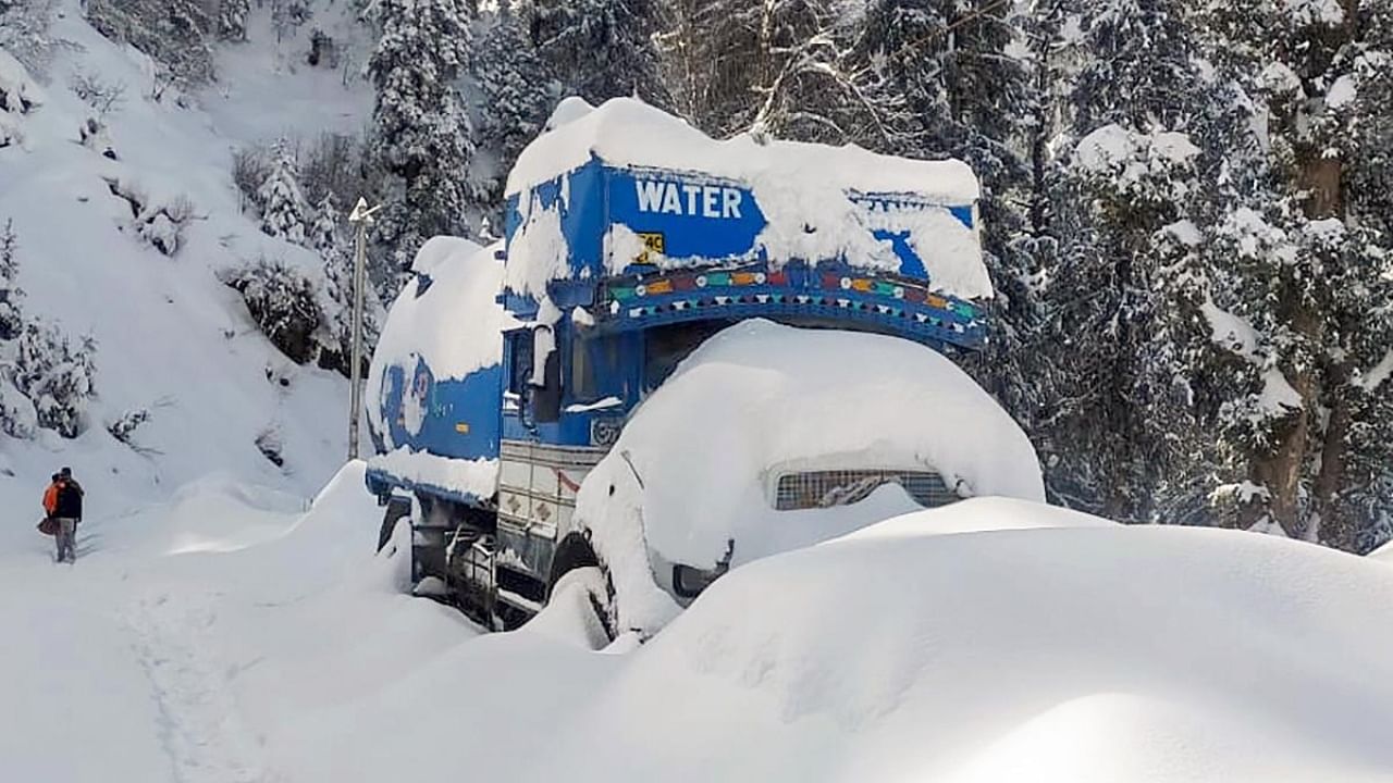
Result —
<instances>
[{"instance_id":1,"label":"thick snow blanket over the truck's hood and front","mask_svg":"<svg viewBox=\"0 0 1393 783\"><path fill-rule=\"evenodd\" d=\"M745 320L683 361L581 486L577 517L610 568L621 627L673 616L649 549L710 568L734 541L738 566L919 509L886 485L850 506L775 510L779 475L839 468L936 471L964 495L1045 497L1029 440L942 354Z\"/></svg>"}]
</instances>

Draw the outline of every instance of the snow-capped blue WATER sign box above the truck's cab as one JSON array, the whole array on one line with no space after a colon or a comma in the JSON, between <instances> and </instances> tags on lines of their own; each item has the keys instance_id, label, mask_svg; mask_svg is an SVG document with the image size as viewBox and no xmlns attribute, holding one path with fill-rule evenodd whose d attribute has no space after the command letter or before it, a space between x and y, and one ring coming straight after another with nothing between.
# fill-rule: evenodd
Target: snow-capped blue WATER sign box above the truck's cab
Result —
<instances>
[{"instance_id":1,"label":"snow-capped blue WATER sign box above the truck's cab","mask_svg":"<svg viewBox=\"0 0 1393 783\"><path fill-rule=\"evenodd\" d=\"M990 298L979 192L960 160L716 141L637 99L567 99L508 176L506 287L545 297L632 268L832 262Z\"/></svg>"}]
</instances>

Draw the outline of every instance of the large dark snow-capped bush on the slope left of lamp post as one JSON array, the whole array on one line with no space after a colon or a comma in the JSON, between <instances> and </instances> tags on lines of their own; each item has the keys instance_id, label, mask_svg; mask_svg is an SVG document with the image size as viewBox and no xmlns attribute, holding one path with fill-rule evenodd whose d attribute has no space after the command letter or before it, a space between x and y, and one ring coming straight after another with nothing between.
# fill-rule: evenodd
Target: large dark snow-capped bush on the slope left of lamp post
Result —
<instances>
[{"instance_id":1,"label":"large dark snow-capped bush on the slope left of lamp post","mask_svg":"<svg viewBox=\"0 0 1393 783\"><path fill-rule=\"evenodd\" d=\"M260 258L221 274L247 302L247 311L280 352L297 364L319 357L323 315L315 286L283 261Z\"/></svg>"}]
</instances>

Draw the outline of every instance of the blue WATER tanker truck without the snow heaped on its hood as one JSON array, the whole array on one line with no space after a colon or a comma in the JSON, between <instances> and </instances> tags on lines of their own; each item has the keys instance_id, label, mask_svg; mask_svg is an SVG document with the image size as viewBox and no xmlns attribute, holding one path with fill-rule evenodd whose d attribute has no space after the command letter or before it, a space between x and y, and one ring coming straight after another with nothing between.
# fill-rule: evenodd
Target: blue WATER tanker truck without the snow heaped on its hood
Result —
<instances>
[{"instance_id":1,"label":"blue WATER tanker truck without the snow heaped on its hood","mask_svg":"<svg viewBox=\"0 0 1393 783\"><path fill-rule=\"evenodd\" d=\"M628 99L574 109L514 170L503 242L422 251L369 373L380 543L410 518L422 591L496 628L536 614L567 573L603 568L577 496L634 411L713 334L768 319L947 354L986 340L964 164L716 142ZM800 481L864 486L872 474ZM872 483L900 482L919 506L956 499L905 476ZM818 486L815 503L855 500L834 489ZM801 496L779 492L779 503ZM705 584L684 581L662 584L684 600Z\"/></svg>"}]
</instances>

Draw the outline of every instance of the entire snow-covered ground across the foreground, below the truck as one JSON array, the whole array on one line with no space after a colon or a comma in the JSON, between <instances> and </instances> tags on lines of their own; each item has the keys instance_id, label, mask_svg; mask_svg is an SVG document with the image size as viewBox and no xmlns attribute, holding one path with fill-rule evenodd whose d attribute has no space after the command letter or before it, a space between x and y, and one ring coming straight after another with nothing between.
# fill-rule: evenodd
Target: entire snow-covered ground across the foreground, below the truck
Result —
<instances>
[{"instance_id":1,"label":"entire snow-covered ground across the foreground, below the truck","mask_svg":"<svg viewBox=\"0 0 1393 783\"><path fill-rule=\"evenodd\" d=\"M379 783L461 758L524 783L1393 773L1376 557L972 499L742 566L648 644L592 652L593 584L493 635L403 595L410 528L373 556L362 472L308 513L216 478L93 515L71 567L0 528L6 777Z\"/></svg>"}]
</instances>

